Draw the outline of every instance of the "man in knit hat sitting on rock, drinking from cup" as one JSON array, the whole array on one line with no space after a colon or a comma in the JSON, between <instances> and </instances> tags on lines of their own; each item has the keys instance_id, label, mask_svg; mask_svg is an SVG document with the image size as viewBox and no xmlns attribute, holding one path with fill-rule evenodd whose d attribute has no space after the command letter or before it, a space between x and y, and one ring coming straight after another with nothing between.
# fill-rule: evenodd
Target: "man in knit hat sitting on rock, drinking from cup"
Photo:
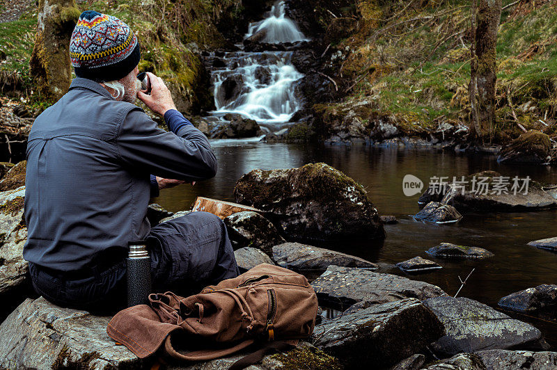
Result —
<instances>
[{"instance_id":1,"label":"man in knit hat sitting on rock, drinking from cup","mask_svg":"<svg viewBox=\"0 0 557 370\"><path fill-rule=\"evenodd\" d=\"M120 19L81 14L70 56L77 78L33 123L27 145L25 220L33 287L66 307L106 311L125 304L127 242L145 239L153 289L197 293L238 268L217 216L192 212L150 227L159 188L214 177L205 136L176 108L164 81L140 91L136 36ZM157 128L139 97L164 117Z\"/></svg>"}]
</instances>

